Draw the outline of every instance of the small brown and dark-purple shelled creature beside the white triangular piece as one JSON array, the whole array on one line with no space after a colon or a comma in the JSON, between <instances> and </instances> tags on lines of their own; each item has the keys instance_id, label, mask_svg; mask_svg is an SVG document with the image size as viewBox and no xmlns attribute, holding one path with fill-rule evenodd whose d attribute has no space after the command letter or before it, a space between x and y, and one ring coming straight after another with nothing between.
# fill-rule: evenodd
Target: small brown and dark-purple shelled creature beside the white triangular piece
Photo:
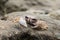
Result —
<instances>
[{"instance_id":1,"label":"small brown and dark-purple shelled creature beside the white triangular piece","mask_svg":"<svg viewBox=\"0 0 60 40\"><path fill-rule=\"evenodd\" d=\"M38 20L35 17L25 16L27 24L31 25L31 28L48 29L48 24L45 21Z\"/></svg>"}]
</instances>

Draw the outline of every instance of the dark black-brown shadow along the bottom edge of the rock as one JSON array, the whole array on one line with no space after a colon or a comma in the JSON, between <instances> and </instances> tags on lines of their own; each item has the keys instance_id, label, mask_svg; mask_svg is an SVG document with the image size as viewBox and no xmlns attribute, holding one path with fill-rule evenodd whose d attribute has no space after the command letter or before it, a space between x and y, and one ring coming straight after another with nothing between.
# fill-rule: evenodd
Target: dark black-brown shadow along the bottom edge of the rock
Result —
<instances>
[{"instance_id":1,"label":"dark black-brown shadow along the bottom edge of the rock","mask_svg":"<svg viewBox=\"0 0 60 40\"><path fill-rule=\"evenodd\" d=\"M36 34L38 35L38 34ZM27 32L23 32L18 35L14 35L11 37L3 37L2 40L57 40L55 37L47 36L47 35L31 35Z\"/></svg>"}]
</instances>

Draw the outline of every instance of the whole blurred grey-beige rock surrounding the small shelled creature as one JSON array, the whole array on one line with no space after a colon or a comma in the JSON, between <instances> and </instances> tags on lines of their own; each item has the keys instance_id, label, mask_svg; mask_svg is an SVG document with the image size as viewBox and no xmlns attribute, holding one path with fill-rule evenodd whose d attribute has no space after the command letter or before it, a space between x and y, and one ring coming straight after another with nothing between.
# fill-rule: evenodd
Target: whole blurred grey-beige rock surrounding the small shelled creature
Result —
<instances>
[{"instance_id":1,"label":"whole blurred grey-beige rock surrounding the small shelled creature","mask_svg":"<svg viewBox=\"0 0 60 40\"><path fill-rule=\"evenodd\" d=\"M21 28L15 17L36 16L48 30ZM0 40L60 40L60 0L0 0Z\"/></svg>"}]
</instances>

